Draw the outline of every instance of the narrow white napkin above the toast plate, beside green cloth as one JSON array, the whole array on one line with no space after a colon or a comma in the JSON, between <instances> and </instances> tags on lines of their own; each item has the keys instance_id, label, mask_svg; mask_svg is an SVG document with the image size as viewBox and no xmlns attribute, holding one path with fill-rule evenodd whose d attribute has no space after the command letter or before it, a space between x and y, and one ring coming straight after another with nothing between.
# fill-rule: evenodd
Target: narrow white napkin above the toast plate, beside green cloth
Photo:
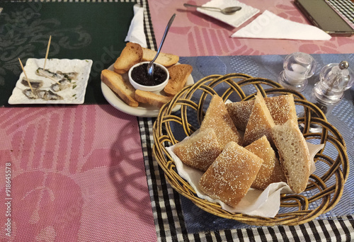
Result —
<instances>
[{"instance_id":1,"label":"narrow white napkin above the toast plate, beside green cloth","mask_svg":"<svg viewBox=\"0 0 354 242\"><path fill-rule=\"evenodd\" d=\"M147 47L147 38L144 33L144 8L139 4L134 5L134 17L125 41L135 42L144 48Z\"/></svg>"}]
</instances>

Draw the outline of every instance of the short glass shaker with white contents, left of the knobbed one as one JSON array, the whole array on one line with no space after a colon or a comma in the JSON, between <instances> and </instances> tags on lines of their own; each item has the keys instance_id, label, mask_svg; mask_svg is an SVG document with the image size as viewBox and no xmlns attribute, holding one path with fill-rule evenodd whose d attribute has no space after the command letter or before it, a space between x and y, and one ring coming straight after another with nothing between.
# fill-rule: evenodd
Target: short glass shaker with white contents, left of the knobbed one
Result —
<instances>
[{"instance_id":1,"label":"short glass shaker with white contents, left of the knobbed one","mask_svg":"<svg viewBox=\"0 0 354 242\"><path fill-rule=\"evenodd\" d=\"M307 86L307 79L314 75L316 61L307 53L295 52L285 57L283 68L278 78L280 85L302 92Z\"/></svg>"}]
</instances>

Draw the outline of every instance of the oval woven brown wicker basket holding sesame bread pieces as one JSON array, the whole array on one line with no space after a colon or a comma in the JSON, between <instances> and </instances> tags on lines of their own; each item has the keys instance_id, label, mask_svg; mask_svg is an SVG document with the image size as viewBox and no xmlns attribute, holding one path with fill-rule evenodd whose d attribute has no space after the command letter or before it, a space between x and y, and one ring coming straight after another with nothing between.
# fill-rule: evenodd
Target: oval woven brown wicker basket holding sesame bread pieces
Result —
<instances>
[{"instance_id":1,"label":"oval woven brown wicker basket holding sesame bread pieces","mask_svg":"<svg viewBox=\"0 0 354 242\"><path fill-rule=\"evenodd\" d=\"M307 190L302 194L282 195L280 212L274 218L232 214L219 204L203 200L195 190L178 175L174 161L166 151L171 146L193 134L200 127L208 103L214 94L224 100L250 100L260 90L264 97L292 94L297 107L299 127L302 127L307 142L325 144L316 154L314 161L319 171L309 178ZM173 107L181 105L178 112ZM319 132L310 132L316 126ZM311 221L319 215L329 212L341 199L343 186L348 178L349 161L346 144L335 127L326 121L321 110L302 96L268 79L253 78L246 74L227 74L207 76L197 83L186 86L171 102L164 105L154 122L153 152L166 180L181 195L190 199L201 209L227 219L235 219L245 224L258 226L297 225Z\"/></svg>"}]
</instances>

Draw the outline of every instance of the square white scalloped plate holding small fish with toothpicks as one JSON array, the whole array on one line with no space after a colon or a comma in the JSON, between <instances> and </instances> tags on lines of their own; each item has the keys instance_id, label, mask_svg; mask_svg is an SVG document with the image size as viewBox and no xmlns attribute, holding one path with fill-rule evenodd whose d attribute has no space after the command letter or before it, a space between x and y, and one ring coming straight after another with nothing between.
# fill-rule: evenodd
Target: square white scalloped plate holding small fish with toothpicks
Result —
<instances>
[{"instance_id":1,"label":"square white scalloped plate holding small fish with toothpicks","mask_svg":"<svg viewBox=\"0 0 354 242\"><path fill-rule=\"evenodd\" d=\"M38 76L35 71L39 67L43 67L45 59L34 59L29 58L25 64L25 73L28 79L42 80L43 86L40 89L51 90L54 81L45 77ZM72 80L73 85L62 91L55 92L57 95L62 96L62 100L43 100L43 99L30 99L25 94L23 90L28 89L28 86L24 86L21 81L25 74L22 72L20 78L16 83L16 87L13 88L12 95L8 98L9 104L82 104L84 103L86 86L89 81L89 76L92 66L91 59L47 59L45 64L45 69L49 69L52 72L62 71L62 72L77 72L77 78ZM52 91L52 90L51 90Z\"/></svg>"}]
</instances>

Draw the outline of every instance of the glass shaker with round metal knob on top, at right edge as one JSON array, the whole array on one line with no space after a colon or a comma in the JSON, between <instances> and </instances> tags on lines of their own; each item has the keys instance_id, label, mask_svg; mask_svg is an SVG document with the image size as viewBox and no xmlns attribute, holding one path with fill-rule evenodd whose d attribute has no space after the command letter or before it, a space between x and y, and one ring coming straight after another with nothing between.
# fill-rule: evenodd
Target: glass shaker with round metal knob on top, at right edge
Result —
<instances>
[{"instance_id":1,"label":"glass shaker with round metal knob on top, at right edge","mask_svg":"<svg viewBox=\"0 0 354 242\"><path fill-rule=\"evenodd\" d=\"M353 71L346 61L331 63L321 69L319 81L312 89L311 102L328 115L342 100L344 91L354 84Z\"/></svg>"}]
</instances>

